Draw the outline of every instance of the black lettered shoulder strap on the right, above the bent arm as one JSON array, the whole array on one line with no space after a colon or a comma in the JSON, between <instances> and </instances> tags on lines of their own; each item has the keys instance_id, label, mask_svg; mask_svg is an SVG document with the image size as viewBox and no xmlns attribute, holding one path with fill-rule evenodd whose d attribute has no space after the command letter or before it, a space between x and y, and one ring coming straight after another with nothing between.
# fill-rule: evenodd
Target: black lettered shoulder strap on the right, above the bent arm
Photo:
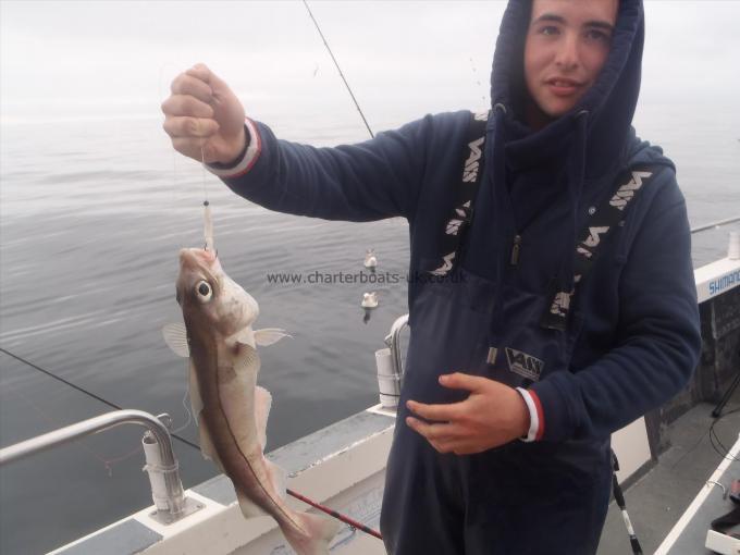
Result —
<instances>
[{"instance_id":1,"label":"black lettered shoulder strap on the right, above the bent arm","mask_svg":"<svg viewBox=\"0 0 740 555\"><path fill-rule=\"evenodd\" d=\"M540 321L543 328L560 331L566 329L568 311L578 284L591 272L596 255L602 250L601 246L606 237L625 220L627 209L662 168L662 165L638 164L617 176L614 195L605 199L591 214L580 234L580 239L576 243L574 291L564 292L554 287L550 307Z\"/></svg>"}]
</instances>

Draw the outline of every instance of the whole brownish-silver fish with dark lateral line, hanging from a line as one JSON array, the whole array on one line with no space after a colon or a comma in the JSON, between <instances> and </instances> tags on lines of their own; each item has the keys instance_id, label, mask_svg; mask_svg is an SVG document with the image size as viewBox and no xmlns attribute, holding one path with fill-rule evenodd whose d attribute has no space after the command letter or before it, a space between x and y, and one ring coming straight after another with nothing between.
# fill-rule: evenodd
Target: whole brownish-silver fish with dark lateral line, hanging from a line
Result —
<instances>
[{"instance_id":1,"label":"whole brownish-silver fish with dark lateral line, hanging from a line","mask_svg":"<svg viewBox=\"0 0 740 555\"><path fill-rule=\"evenodd\" d=\"M257 385L257 346L289 335L254 330L255 298L234 282L211 249L180 251L176 281L182 323L163 329L165 343L189 358L189 391L200 451L234 484L246 518L270 515L298 555L325 555L338 522L300 513L285 503L285 472L264 457L272 396Z\"/></svg>"}]
</instances>

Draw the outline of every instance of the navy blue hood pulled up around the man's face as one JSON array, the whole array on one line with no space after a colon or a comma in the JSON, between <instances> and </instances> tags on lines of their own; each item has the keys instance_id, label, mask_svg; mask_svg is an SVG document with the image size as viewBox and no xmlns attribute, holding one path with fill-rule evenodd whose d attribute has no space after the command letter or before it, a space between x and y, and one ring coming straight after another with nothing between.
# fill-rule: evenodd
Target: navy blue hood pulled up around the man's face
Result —
<instances>
[{"instance_id":1,"label":"navy blue hood pulled up around the man's face","mask_svg":"<svg viewBox=\"0 0 740 555\"><path fill-rule=\"evenodd\" d=\"M576 107L558 120L533 132L525 122L527 87L523 50L532 0L510 0L502 20L491 75L494 111L505 112L507 163L562 157L577 140L581 118L587 120L584 173L597 177L624 163L640 91L644 14L642 0L620 0L608 58L594 85Z\"/></svg>"}]
</instances>

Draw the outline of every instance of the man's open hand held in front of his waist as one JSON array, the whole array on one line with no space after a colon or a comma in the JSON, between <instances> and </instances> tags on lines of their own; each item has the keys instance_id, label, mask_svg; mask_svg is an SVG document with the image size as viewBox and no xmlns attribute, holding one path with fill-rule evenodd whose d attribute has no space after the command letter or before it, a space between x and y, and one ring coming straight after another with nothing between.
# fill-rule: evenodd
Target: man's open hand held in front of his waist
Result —
<instances>
[{"instance_id":1,"label":"man's open hand held in front of his waist","mask_svg":"<svg viewBox=\"0 0 740 555\"><path fill-rule=\"evenodd\" d=\"M470 396L448 405L406 403L411 412L435 422L406 418L409 428L423 435L440 453L481 453L527 435L529 410L515 388L460 372L441 375L440 383L453 390L467 390Z\"/></svg>"}]
</instances>

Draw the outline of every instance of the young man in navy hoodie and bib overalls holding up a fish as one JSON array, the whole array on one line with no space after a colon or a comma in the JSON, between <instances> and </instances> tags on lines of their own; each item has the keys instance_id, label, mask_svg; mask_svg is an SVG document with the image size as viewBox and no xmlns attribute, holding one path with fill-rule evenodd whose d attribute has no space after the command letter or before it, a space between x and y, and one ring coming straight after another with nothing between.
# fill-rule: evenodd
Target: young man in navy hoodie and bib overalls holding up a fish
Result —
<instances>
[{"instance_id":1,"label":"young man in navy hoodie and bib overalls holding up a fish","mask_svg":"<svg viewBox=\"0 0 740 555\"><path fill-rule=\"evenodd\" d=\"M274 210L403 215L411 275L437 278L409 285L381 517L392 554L595 553L609 434L695 366L683 198L673 163L630 125L643 32L640 0L509 2L474 210L464 210L474 218L451 252L460 151L474 153L468 112L314 149L244 125L202 65L173 83L164 128L177 150L200 160L202 147L234 192ZM602 211L622 209L621 223L602 224Z\"/></svg>"}]
</instances>

